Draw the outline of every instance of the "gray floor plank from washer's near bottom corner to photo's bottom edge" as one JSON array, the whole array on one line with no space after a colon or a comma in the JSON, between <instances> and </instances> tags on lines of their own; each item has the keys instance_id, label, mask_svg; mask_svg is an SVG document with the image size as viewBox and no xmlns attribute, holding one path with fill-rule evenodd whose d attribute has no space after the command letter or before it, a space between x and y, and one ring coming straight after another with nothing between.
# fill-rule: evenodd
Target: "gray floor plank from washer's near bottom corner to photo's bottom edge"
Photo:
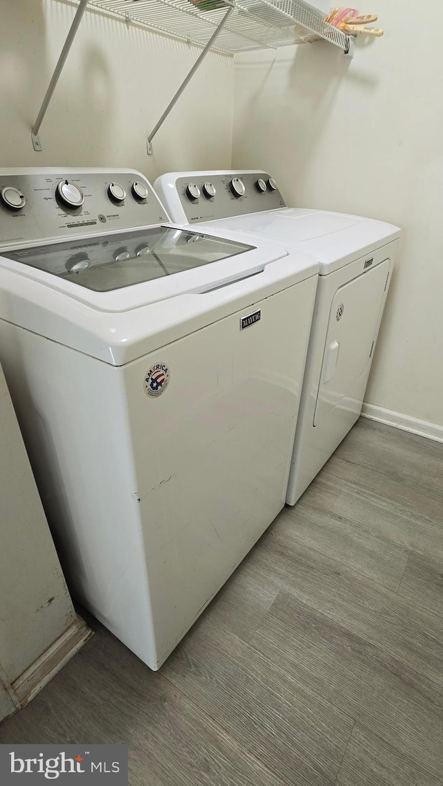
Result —
<instances>
[{"instance_id":1,"label":"gray floor plank from washer's near bottom corner to photo's bottom edge","mask_svg":"<svg viewBox=\"0 0 443 786\"><path fill-rule=\"evenodd\" d=\"M287 784L330 784L353 720L208 619L164 664L164 676Z\"/></svg>"}]
</instances>

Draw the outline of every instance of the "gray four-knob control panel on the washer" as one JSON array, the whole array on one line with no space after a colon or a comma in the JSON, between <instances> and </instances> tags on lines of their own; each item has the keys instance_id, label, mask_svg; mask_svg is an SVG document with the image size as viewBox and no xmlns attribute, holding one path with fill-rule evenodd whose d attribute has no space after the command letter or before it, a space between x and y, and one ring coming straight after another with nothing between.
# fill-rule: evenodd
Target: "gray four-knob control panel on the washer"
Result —
<instances>
[{"instance_id":1,"label":"gray four-knob control panel on the washer","mask_svg":"<svg viewBox=\"0 0 443 786\"><path fill-rule=\"evenodd\" d=\"M0 248L168 221L150 183L139 172L0 170Z\"/></svg>"}]
</instances>

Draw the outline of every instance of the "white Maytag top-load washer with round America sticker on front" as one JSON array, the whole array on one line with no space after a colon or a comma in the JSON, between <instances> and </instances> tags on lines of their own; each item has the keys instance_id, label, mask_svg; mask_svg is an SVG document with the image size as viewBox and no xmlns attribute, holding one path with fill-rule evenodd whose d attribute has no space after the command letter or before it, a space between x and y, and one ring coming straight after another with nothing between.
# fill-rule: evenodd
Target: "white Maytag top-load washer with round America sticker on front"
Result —
<instances>
[{"instance_id":1,"label":"white Maytag top-load washer with round America sticker on front","mask_svg":"<svg viewBox=\"0 0 443 786\"><path fill-rule=\"evenodd\" d=\"M75 596L158 669L282 509L318 266L0 170L0 360ZM226 235L226 237L225 237Z\"/></svg>"}]
</instances>

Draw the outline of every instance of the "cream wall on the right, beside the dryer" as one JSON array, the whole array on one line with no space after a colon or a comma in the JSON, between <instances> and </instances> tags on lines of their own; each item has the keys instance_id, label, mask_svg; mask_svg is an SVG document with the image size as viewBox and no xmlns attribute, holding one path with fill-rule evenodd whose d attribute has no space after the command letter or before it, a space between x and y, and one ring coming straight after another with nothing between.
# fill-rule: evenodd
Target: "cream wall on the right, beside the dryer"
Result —
<instances>
[{"instance_id":1,"label":"cream wall on the right, beside the dryer","mask_svg":"<svg viewBox=\"0 0 443 786\"><path fill-rule=\"evenodd\" d=\"M366 400L443 426L441 2L424 26L400 5L360 6L386 34L350 63L323 43L237 56L233 166L270 171L289 204L403 228Z\"/></svg>"}]
</instances>

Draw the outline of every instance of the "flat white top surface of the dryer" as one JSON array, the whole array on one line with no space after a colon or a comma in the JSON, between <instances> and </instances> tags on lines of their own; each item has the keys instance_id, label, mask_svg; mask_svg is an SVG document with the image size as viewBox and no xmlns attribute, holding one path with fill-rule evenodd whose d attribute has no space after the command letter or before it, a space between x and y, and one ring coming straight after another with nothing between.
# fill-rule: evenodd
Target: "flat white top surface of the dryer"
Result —
<instances>
[{"instance_id":1,"label":"flat white top surface of the dryer","mask_svg":"<svg viewBox=\"0 0 443 786\"><path fill-rule=\"evenodd\" d=\"M395 240L400 234L397 226L382 221L302 208L250 213L193 227L195 230L217 227L247 231L285 248L297 248L317 259L323 276Z\"/></svg>"}]
</instances>

